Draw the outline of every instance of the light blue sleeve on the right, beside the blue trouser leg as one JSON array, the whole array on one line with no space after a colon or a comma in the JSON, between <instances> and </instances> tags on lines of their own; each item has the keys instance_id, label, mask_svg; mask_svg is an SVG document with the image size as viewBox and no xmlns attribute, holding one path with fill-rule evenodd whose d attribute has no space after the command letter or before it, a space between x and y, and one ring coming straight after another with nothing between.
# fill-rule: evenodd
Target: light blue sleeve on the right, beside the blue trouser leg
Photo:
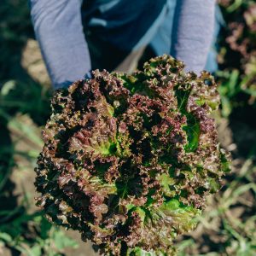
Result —
<instances>
[{"instance_id":1,"label":"light blue sleeve on the right, beside the blue trouser leg","mask_svg":"<svg viewBox=\"0 0 256 256\"><path fill-rule=\"evenodd\" d=\"M214 32L215 0L179 0L172 29L171 55L199 73L207 63Z\"/></svg>"}]
</instances>

